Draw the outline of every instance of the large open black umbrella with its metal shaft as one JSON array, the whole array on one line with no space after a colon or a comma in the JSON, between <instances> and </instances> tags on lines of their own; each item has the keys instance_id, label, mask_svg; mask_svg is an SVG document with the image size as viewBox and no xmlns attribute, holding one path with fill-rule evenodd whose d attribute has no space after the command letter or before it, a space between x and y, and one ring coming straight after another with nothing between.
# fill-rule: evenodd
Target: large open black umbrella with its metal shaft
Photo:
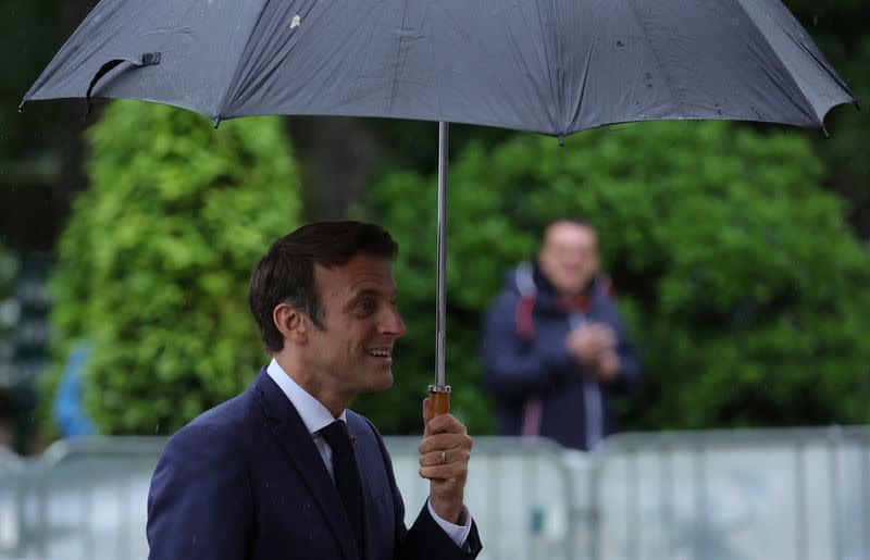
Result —
<instances>
[{"instance_id":1,"label":"large open black umbrella with its metal shaft","mask_svg":"<svg viewBox=\"0 0 870 560\"><path fill-rule=\"evenodd\" d=\"M728 119L823 127L855 103L780 0L102 0L24 97L214 119L438 121L434 391L447 394L447 124L562 136ZM446 401L446 399L444 399Z\"/></svg>"}]
</instances>

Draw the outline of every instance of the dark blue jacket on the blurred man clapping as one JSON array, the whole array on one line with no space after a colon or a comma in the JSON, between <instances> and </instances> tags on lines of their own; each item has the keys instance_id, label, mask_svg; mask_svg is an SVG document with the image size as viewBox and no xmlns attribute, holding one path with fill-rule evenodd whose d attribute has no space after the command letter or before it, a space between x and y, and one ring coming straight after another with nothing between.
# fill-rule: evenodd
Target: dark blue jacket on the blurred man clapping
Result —
<instances>
[{"instance_id":1,"label":"dark blue jacket on the blurred man clapping","mask_svg":"<svg viewBox=\"0 0 870 560\"><path fill-rule=\"evenodd\" d=\"M620 371L606 385L586 375L566 348L572 326L584 322L606 323L617 335ZM521 264L507 275L505 289L486 314L481 346L501 435L594 448L616 428L611 396L633 393L642 381L635 349L604 277L569 308L537 267Z\"/></svg>"}]
</instances>

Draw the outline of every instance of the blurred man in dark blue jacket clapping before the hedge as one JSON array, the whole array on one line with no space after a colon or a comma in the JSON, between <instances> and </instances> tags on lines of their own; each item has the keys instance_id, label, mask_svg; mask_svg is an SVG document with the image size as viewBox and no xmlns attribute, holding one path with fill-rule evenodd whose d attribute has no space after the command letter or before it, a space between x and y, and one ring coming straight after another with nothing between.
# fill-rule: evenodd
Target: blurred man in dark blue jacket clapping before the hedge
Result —
<instances>
[{"instance_id":1,"label":"blurred man in dark blue jacket clapping before the hedge","mask_svg":"<svg viewBox=\"0 0 870 560\"><path fill-rule=\"evenodd\" d=\"M613 433L610 397L635 391L642 373L592 225L547 226L536 261L508 274L489 309L482 356L500 435L593 450Z\"/></svg>"}]
</instances>

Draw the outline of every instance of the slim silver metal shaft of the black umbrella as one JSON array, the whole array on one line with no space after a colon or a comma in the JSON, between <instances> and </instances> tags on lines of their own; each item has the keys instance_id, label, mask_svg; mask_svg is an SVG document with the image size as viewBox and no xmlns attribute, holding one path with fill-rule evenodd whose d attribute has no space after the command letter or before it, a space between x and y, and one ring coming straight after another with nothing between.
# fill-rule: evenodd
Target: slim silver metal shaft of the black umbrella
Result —
<instances>
[{"instance_id":1,"label":"slim silver metal shaft of the black umbrella","mask_svg":"<svg viewBox=\"0 0 870 560\"><path fill-rule=\"evenodd\" d=\"M438 122L438 263L435 308L435 386L447 385L447 123Z\"/></svg>"}]
</instances>

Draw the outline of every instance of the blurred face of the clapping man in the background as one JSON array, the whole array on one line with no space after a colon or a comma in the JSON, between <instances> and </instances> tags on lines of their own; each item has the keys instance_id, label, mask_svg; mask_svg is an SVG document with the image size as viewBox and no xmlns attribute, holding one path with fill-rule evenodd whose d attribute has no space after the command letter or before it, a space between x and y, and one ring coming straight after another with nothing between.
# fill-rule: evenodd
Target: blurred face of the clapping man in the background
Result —
<instances>
[{"instance_id":1,"label":"blurred face of the clapping man in the background","mask_svg":"<svg viewBox=\"0 0 870 560\"><path fill-rule=\"evenodd\" d=\"M559 294L579 294L598 272L598 236L592 227L556 222L544 234L538 265Z\"/></svg>"}]
</instances>

